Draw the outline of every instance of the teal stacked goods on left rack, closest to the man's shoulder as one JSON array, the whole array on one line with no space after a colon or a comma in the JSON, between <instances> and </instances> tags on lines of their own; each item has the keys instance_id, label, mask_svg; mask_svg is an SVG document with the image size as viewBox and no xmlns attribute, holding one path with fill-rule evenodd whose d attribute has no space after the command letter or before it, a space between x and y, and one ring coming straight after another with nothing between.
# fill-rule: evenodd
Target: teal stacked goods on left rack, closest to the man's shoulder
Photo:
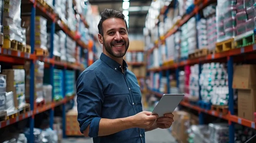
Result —
<instances>
[{"instance_id":1,"label":"teal stacked goods on left rack, closest to the man's shoulder","mask_svg":"<svg viewBox=\"0 0 256 143\"><path fill-rule=\"evenodd\" d=\"M65 96L72 96L75 93L75 71L66 70L65 73Z\"/></svg>"}]
</instances>

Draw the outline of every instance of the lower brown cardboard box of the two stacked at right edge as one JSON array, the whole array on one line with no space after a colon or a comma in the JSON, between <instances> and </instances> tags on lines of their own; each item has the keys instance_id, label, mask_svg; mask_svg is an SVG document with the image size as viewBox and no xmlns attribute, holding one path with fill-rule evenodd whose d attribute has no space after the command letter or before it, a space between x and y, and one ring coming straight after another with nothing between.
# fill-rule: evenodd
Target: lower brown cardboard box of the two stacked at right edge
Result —
<instances>
[{"instance_id":1,"label":"lower brown cardboard box of the two stacked at right edge","mask_svg":"<svg viewBox=\"0 0 256 143\"><path fill-rule=\"evenodd\" d=\"M256 112L256 89L238 90L238 116L254 121Z\"/></svg>"}]
</instances>

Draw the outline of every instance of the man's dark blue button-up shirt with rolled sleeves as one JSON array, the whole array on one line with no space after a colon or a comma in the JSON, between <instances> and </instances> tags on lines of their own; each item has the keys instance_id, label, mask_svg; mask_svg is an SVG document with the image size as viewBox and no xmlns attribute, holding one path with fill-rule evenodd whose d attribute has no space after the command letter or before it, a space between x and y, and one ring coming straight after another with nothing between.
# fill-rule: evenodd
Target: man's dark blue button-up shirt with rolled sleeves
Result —
<instances>
[{"instance_id":1,"label":"man's dark blue button-up shirt with rolled sleeves","mask_svg":"<svg viewBox=\"0 0 256 143\"><path fill-rule=\"evenodd\" d=\"M93 143L145 143L145 130L141 128L98 137L101 118L125 118L142 111L137 78L127 68L125 61L120 65L102 53L76 81L80 131L83 133L90 124L89 137L93 137Z\"/></svg>"}]
</instances>

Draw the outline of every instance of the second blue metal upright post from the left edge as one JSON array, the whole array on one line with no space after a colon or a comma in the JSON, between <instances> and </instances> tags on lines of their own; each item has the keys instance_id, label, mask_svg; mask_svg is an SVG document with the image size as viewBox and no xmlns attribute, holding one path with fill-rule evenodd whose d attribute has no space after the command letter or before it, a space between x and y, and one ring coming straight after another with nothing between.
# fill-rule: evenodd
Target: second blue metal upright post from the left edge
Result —
<instances>
[{"instance_id":1,"label":"second blue metal upright post from the left edge","mask_svg":"<svg viewBox=\"0 0 256 143\"><path fill-rule=\"evenodd\" d=\"M54 6L54 0L53 0L53 6ZM54 40L54 33L55 33L55 21L52 21L51 24L51 33L50 33L50 58L53 58L53 40ZM52 85L52 101L54 99L54 65L50 64L50 84ZM53 129L53 118L54 118L54 108L50 109L50 128Z\"/></svg>"}]
</instances>

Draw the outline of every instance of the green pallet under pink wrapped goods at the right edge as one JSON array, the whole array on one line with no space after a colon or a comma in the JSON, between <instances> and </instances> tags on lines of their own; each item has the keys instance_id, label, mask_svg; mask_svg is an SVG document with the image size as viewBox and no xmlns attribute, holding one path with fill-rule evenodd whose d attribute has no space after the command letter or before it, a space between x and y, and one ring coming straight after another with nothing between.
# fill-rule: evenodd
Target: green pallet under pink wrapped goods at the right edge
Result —
<instances>
[{"instance_id":1,"label":"green pallet under pink wrapped goods at the right edge","mask_svg":"<svg viewBox=\"0 0 256 143\"><path fill-rule=\"evenodd\" d=\"M236 48L252 45L255 43L253 30L245 32L234 38Z\"/></svg>"}]
</instances>

